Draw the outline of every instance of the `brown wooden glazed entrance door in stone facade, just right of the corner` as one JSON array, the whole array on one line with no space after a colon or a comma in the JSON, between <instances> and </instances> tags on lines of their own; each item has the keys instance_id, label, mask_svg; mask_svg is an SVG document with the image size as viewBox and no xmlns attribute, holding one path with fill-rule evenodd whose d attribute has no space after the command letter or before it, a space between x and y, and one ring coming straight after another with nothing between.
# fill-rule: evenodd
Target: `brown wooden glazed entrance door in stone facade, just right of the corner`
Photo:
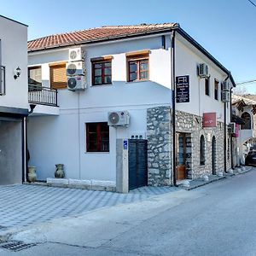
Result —
<instances>
[{"instance_id":1,"label":"brown wooden glazed entrance door in stone facade, just right of the corner","mask_svg":"<svg viewBox=\"0 0 256 256\"><path fill-rule=\"evenodd\" d=\"M177 132L177 149L176 149L176 159L177 159L177 180L183 180L186 178L186 134L182 132Z\"/></svg>"}]
</instances>

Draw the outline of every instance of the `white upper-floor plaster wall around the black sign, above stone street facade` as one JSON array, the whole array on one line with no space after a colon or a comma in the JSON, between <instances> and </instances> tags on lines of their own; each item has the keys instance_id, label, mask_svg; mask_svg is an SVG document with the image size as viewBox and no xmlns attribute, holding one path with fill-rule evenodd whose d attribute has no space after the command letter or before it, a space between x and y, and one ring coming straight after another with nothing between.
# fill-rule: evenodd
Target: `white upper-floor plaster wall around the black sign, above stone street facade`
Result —
<instances>
[{"instance_id":1,"label":"white upper-floor plaster wall around the black sign, above stone street facade","mask_svg":"<svg viewBox=\"0 0 256 256\"><path fill-rule=\"evenodd\" d=\"M197 76L197 65L207 63L210 77L210 96L205 94L205 79ZM176 76L189 75L190 102L177 103L177 110L202 116L203 113L216 112L218 121L224 122L224 102L221 102L221 82L227 75L203 56L194 46L188 47L183 38L176 39ZM218 101L214 99L214 79L219 81ZM230 103L227 120L230 122Z\"/></svg>"}]
</instances>

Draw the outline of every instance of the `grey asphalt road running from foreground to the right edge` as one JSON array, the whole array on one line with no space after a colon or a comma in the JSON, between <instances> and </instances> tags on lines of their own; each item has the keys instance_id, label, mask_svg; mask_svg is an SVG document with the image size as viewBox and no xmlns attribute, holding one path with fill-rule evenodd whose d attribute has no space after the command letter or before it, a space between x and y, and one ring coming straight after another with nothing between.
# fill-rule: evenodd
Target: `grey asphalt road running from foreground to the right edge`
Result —
<instances>
[{"instance_id":1,"label":"grey asphalt road running from foreground to the right edge","mask_svg":"<svg viewBox=\"0 0 256 256\"><path fill-rule=\"evenodd\" d=\"M256 169L199 189L55 220L0 255L256 255Z\"/></svg>"}]
</instances>

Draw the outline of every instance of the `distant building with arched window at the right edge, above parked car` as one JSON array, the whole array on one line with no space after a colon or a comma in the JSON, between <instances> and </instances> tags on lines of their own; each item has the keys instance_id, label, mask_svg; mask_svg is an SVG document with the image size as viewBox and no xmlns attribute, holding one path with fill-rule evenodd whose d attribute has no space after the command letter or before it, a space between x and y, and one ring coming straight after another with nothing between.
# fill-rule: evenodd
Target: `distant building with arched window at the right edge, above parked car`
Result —
<instances>
[{"instance_id":1,"label":"distant building with arched window at the right edge, above parked car","mask_svg":"<svg viewBox=\"0 0 256 256\"><path fill-rule=\"evenodd\" d=\"M245 164L253 138L256 137L256 102L247 96L232 95L232 121L236 123L236 136L233 137L233 164Z\"/></svg>"}]
</instances>

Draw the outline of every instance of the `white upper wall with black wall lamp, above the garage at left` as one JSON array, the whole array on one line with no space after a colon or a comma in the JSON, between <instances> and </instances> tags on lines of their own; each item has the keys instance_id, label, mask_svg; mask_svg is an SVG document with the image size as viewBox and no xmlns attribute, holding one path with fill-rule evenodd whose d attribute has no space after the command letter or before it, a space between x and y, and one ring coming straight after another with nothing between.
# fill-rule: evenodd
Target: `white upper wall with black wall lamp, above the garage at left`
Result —
<instances>
[{"instance_id":1,"label":"white upper wall with black wall lamp, above the garage at left","mask_svg":"<svg viewBox=\"0 0 256 256\"><path fill-rule=\"evenodd\" d=\"M0 96L0 106L27 108L27 27L0 16L2 64L6 70L6 95ZM14 71L20 67L20 78Z\"/></svg>"}]
</instances>

